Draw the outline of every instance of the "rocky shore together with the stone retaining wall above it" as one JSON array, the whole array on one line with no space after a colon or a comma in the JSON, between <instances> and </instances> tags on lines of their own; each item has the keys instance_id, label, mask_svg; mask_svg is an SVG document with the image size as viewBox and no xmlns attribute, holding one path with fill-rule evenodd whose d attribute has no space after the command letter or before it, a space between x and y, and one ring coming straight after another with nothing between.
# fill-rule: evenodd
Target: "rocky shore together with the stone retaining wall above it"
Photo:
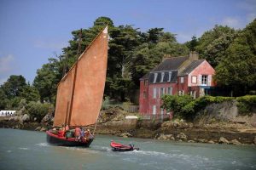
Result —
<instances>
[{"instance_id":1,"label":"rocky shore together with the stone retaining wall above it","mask_svg":"<svg viewBox=\"0 0 256 170\"><path fill-rule=\"evenodd\" d=\"M240 114L241 103L237 103L237 100L242 99L208 104L204 110L196 114L193 121L175 116L172 120L147 120L138 113L125 111L119 105L108 106L101 111L96 134L189 143L256 145L256 114L254 112ZM17 111L16 116L1 117L0 127L42 132L52 128L53 111L49 111L41 122L34 119L31 121L31 118L27 114L22 114L22 111L26 112L23 108ZM244 105L242 111L245 111ZM138 116L138 119L125 119L125 116L131 115ZM93 126L90 128L93 129Z\"/></svg>"}]
</instances>

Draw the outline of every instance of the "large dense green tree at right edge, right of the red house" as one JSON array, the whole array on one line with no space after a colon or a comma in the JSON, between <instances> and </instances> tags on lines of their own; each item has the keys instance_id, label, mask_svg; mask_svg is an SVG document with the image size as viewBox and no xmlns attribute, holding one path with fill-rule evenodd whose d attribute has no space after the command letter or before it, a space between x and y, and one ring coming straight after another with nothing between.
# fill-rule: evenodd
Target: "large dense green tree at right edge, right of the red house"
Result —
<instances>
[{"instance_id":1,"label":"large dense green tree at right edge, right of the red house","mask_svg":"<svg viewBox=\"0 0 256 170\"><path fill-rule=\"evenodd\" d=\"M226 50L216 68L218 85L230 87L234 95L248 94L256 87L256 20L253 20Z\"/></svg>"}]
</instances>

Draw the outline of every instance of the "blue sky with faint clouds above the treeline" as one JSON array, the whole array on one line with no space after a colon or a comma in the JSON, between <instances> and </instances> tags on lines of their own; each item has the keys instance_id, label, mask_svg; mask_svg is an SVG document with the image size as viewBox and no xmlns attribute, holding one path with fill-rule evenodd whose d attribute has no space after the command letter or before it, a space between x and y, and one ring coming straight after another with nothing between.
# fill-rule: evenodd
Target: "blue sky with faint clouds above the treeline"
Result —
<instances>
[{"instance_id":1,"label":"blue sky with faint clouds above the treeline","mask_svg":"<svg viewBox=\"0 0 256 170\"><path fill-rule=\"evenodd\" d=\"M0 84L11 75L32 83L67 47L71 31L100 16L140 31L164 28L186 42L215 25L244 28L256 18L256 0L0 0Z\"/></svg>"}]
</instances>

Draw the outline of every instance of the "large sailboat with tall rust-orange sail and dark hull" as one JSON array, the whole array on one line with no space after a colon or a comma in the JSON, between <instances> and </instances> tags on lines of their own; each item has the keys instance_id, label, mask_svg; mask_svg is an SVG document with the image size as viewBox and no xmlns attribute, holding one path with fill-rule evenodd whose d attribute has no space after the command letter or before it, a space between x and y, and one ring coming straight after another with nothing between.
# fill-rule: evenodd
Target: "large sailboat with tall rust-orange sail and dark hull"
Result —
<instances>
[{"instance_id":1,"label":"large sailboat with tall rust-orange sail and dark hull","mask_svg":"<svg viewBox=\"0 0 256 170\"><path fill-rule=\"evenodd\" d=\"M57 88L54 127L95 125L99 116L108 62L108 26L103 29L79 56L61 79ZM94 130L95 130L94 129ZM94 134L94 133L93 133ZM49 144L89 147L94 138L75 139L46 132Z\"/></svg>"}]
</instances>

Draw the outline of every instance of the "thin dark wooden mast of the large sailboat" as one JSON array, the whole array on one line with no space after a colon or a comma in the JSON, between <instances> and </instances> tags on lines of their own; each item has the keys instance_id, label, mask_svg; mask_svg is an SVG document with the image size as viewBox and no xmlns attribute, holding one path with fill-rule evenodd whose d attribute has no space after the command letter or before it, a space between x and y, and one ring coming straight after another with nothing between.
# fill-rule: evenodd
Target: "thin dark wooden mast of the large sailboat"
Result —
<instances>
[{"instance_id":1,"label":"thin dark wooden mast of the large sailboat","mask_svg":"<svg viewBox=\"0 0 256 170\"><path fill-rule=\"evenodd\" d=\"M77 79L77 72L78 72L78 66L79 66L79 54L81 52L81 39L82 39L82 28L79 31L79 47L77 51L77 59L76 59L76 64L75 64L75 71L74 71L74 77L73 77L73 86L72 86L72 93L71 93L71 101L70 101L70 106L69 106L69 114L68 114L68 120L67 120L67 125L70 125L70 119L73 111L73 95L74 95L74 89L76 86L76 79Z\"/></svg>"}]
</instances>

